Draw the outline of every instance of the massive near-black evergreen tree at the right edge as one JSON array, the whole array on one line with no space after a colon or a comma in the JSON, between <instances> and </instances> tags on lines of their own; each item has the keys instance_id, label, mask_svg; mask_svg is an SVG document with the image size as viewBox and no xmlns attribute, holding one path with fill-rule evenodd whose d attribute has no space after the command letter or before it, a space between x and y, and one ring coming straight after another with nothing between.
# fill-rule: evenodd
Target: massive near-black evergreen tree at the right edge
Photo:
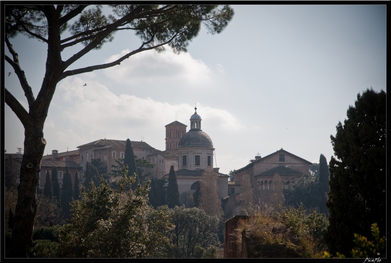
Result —
<instances>
[{"instance_id":1,"label":"massive near-black evergreen tree at the right edge","mask_svg":"<svg viewBox=\"0 0 391 263\"><path fill-rule=\"evenodd\" d=\"M357 94L344 125L330 135L335 157L330 160L330 213L325 241L330 253L350 255L354 233L372 236L371 224L386 236L386 92Z\"/></svg>"}]
</instances>

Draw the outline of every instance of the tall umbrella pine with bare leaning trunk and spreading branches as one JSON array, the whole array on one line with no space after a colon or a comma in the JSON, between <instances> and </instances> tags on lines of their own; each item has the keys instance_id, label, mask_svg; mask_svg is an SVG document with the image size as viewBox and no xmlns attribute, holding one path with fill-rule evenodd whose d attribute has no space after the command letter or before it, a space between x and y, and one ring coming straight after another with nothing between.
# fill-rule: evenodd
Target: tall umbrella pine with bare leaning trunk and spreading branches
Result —
<instances>
[{"instance_id":1,"label":"tall umbrella pine with bare leaning trunk and spreading branches","mask_svg":"<svg viewBox=\"0 0 391 263\"><path fill-rule=\"evenodd\" d=\"M4 60L19 79L28 104L25 107L15 97L15 87L5 87L5 103L25 129L11 257L25 258L29 255L37 214L37 174L46 145L43 127L57 84L67 77L118 66L132 55L146 50L162 51L168 45L175 53L187 51L201 25L206 27L208 33L221 33L234 16L234 10L229 5L111 4L106 7L108 15L99 4L4 5L4 42L7 50ZM86 64L81 63L83 66L80 68L75 66L80 65L76 62L85 58L91 50L114 41L118 32L133 32L141 44L135 48L129 47L132 51L115 61L98 65L89 65L86 61ZM47 46L46 53L42 54L46 57L45 73L36 95L33 93L36 89L30 86L25 74L26 69L19 63L18 50L12 45L13 38L20 34L28 37L26 41L39 41Z\"/></svg>"}]
</instances>

